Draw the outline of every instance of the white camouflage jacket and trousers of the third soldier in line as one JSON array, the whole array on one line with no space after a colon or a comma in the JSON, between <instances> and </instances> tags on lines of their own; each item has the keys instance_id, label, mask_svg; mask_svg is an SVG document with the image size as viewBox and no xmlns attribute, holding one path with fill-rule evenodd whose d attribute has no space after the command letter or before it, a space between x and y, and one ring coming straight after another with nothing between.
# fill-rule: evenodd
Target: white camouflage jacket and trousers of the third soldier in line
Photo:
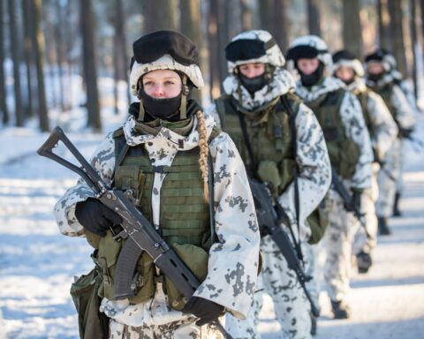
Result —
<instances>
[{"instance_id":1,"label":"white camouflage jacket and trousers of the third soldier in line","mask_svg":"<svg viewBox=\"0 0 424 339\"><path fill-rule=\"evenodd\" d=\"M312 102L321 95L345 87L333 77L325 77L321 83L308 89L298 82L297 93L305 102ZM356 97L345 93L340 106L340 118L345 126L346 136L360 147L360 158L352 180L345 180L347 188L367 189L371 187L371 164L374 156L365 125L360 102ZM329 227L320 245L324 264L324 286L332 300L343 300L349 291L352 243L360 227L352 213L346 212L343 201L334 189L330 189L322 213L329 220ZM321 255L321 254L320 254Z\"/></svg>"}]
</instances>

